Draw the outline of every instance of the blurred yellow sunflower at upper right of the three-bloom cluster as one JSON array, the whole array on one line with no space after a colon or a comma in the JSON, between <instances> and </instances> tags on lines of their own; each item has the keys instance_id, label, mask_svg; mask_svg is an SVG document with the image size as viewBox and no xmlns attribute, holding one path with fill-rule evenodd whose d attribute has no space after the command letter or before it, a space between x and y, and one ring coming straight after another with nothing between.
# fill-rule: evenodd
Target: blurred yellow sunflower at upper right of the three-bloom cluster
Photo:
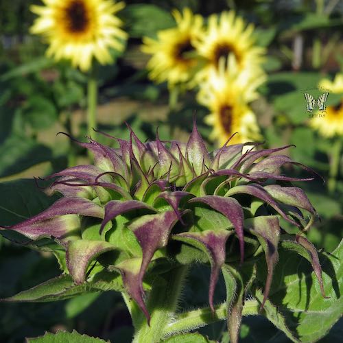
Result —
<instances>
[{"instance_id":1,"label":"blurred yellow sunflower at upper right of the three-bloom cluster","mask_svg":"<svg viewBox=\"0 0 343 343\"><path fill-rule=\"evenodd\" d=\"M254 26L246 23L234 11L209 16L208 27L196 42L198 54L206 61L197 78L203 80L209 70L217 68L221 58L234 56L239 70L261 73L265 49L254 46ZM252 67L253 66L253 67Z\"/></svg>"}]
</instances>

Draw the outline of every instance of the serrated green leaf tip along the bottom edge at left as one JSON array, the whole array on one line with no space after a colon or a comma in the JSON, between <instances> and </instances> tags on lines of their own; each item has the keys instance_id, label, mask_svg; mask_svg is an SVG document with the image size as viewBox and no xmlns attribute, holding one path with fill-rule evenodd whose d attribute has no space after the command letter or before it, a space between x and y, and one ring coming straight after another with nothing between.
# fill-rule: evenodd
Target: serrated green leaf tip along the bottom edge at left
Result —
<instances>
[{"instance_id":1,"label":"serrated green leaf tip along the bottom edge at left","mask_svg":"<svg viewBox=\"0 0 343 343\"><path fill-rule=\"evenodd\" d=\"M46 332L45 335L37 338L27 338L27 343L104 343L100 338L93 338L87 335L81 335L77 331L73 332L58 331L57 333Z\"/></svg>"}]
</instances>

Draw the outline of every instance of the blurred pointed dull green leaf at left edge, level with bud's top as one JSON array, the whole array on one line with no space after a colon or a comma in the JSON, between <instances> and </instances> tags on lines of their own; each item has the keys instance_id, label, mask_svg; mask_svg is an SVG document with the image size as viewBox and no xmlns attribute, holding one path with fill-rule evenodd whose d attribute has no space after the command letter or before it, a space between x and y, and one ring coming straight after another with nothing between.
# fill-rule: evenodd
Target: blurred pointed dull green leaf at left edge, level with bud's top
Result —
<instances>
[{"instance_id":1,"label":"blurred pointed dull green leaf at left edge, level with bud's top","mask_svg":"<svg viewBox=\"0 0 343 343\"><path fill-rule=\"evenodd\" d=\"M51 161L51 150L33 139L12 134L0 146L0 156L0 177L4 177L38 163Z\"/></svg>"}]
</instances>

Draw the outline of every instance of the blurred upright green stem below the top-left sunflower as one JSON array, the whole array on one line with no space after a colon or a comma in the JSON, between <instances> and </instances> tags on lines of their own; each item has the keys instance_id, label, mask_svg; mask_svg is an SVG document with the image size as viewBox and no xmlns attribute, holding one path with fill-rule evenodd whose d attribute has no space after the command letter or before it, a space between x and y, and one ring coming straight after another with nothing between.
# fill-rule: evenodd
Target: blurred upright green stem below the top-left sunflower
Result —
<instances>
[{"instance_id":1,"label":"blurred upright green stem below the top-left sunflower","mask_svg":"<svg viewBox=\"0 0 343 343\"><path fill-rule=\"evenodd\" d=\"M87 85L87 134L89 137L95 136L93 128L97 128L96 110L97 110L97 78L95 69L91 70Z\"/></svg>"}]
</instances>

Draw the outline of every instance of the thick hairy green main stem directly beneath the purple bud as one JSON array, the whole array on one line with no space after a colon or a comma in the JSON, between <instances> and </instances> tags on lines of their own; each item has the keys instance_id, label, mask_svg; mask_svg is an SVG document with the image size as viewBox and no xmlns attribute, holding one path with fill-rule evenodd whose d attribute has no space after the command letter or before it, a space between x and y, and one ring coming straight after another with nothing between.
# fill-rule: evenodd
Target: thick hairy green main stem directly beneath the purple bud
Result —
<instances>
[{"instance_id":1,"label":"thick hairy green main stem directly beneath the purple bud","mask_svg":"<svg viewBox=\"0 0 343 343\"><path fill-rule=\"evenodd\" d=\"M134 335L133 343L161 341L163 329L176 311L187 270L188 267L182 265L168 272L164 282L160 279L157 285L152 285L152 291L147 300L147 309L151 314L150 326L146 320L141 322ZM133 319L133 321L138 320Z\"/></svg>"}]
</instances>

